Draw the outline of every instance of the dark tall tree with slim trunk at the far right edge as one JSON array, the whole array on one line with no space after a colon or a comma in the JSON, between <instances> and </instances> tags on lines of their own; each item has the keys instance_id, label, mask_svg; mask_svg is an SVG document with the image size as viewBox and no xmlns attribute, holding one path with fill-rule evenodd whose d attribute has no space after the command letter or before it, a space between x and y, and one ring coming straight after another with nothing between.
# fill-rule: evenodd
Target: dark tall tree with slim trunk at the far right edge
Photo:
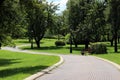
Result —
<instances>
[{"instance_id":1,"label":"dark tall tree with slim trunk at the far right edge","mask_svg":"<svg viewBox=\"0 0 120 80\"><path fill-rule=\"evenodd\" d=\"M113 39L115 41L114 51L118 52L117 38L119 31L119 21L120 21L120 1L111 0L110 1L110 20L111 20L111 29L113 30Z\"/></svg>"}]
</instances>

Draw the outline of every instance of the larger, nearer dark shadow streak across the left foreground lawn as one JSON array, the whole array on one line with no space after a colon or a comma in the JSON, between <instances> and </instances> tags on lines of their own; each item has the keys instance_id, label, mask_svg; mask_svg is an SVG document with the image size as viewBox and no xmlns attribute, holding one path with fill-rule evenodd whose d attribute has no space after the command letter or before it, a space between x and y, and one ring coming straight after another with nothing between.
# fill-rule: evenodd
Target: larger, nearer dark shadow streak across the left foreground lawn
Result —
<instances>
[{"instance_id":1,"label":"larger, nearer dark shadow streak across the left foreground lawn","mask_svg":"<svg viewBox=\"0 0 120 80\"><path fill-rule=\"evenodd\" d=\"M4 78L4 77L8 77L8 76L12 76L15 74L19 74L19 73L29 73L29 74L34 74L38 71L41 71L45 68L47 68L48 66L34 66L34 67L21 67L21 68L13 68L13 69L5 69L5 70L0 70L0 77Z\"/></svg>"}]
</instances>

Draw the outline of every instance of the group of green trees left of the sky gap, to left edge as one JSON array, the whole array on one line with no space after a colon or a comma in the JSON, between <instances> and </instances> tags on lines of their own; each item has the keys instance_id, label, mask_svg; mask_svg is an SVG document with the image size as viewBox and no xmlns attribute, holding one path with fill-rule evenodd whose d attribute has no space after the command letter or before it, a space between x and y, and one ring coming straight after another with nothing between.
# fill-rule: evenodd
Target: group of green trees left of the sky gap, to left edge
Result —
<instances>
[{"instance_id":1,"label":"group of green trees left of the sky gap, to left edge","mask_svg":"<svg viewBox=\"0 0 120 80\"><path fill-rule=\"evenodd\" d=\"M47 28L54 24L57 5L45 0L1 0L0 10L0 43L27 36L39 48Z\"/></svg>"}]
</instances>

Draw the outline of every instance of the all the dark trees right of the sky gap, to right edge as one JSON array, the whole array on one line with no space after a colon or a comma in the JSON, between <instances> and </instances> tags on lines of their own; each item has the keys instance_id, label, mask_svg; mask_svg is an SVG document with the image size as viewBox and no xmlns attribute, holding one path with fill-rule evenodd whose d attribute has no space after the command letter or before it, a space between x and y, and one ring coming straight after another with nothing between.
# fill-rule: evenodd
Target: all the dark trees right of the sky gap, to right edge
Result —
<instances>
[{"instance_id":1,"label":"all the dark trees right of the sky gap, to right edge","mask_svg":"<svg viewBox=\"0 0 120 80\"><path fill-rule=\"evenodd\" d=\"M119 8L119 0L69 0L68 25L75 47L79 42L87 49L90 42L110 41L117 52Z\"/></svg>"}]
</instances>

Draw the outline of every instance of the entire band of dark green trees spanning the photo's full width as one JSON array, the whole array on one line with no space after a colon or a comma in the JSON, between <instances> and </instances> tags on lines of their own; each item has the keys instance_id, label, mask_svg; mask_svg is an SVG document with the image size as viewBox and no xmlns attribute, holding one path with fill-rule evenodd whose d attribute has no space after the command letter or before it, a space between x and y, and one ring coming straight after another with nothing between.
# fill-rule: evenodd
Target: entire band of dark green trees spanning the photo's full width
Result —
<instances>
[{"instance_id":1,"label":"entire band of dark green trees spanning the photo's full width","mask_svg":"<svg viewBox=\"0 0 120 80\"><path fill-rule=\"evenodd\" d=\"M68 0L67 9L56 14L58 5L46 0L0 0L0 43L12 38L34 38L40 48L42 38L69 36L75 47L90 42L110 41L115 52L120 38L119 0Z\"/></svg>"}]
</instances>

